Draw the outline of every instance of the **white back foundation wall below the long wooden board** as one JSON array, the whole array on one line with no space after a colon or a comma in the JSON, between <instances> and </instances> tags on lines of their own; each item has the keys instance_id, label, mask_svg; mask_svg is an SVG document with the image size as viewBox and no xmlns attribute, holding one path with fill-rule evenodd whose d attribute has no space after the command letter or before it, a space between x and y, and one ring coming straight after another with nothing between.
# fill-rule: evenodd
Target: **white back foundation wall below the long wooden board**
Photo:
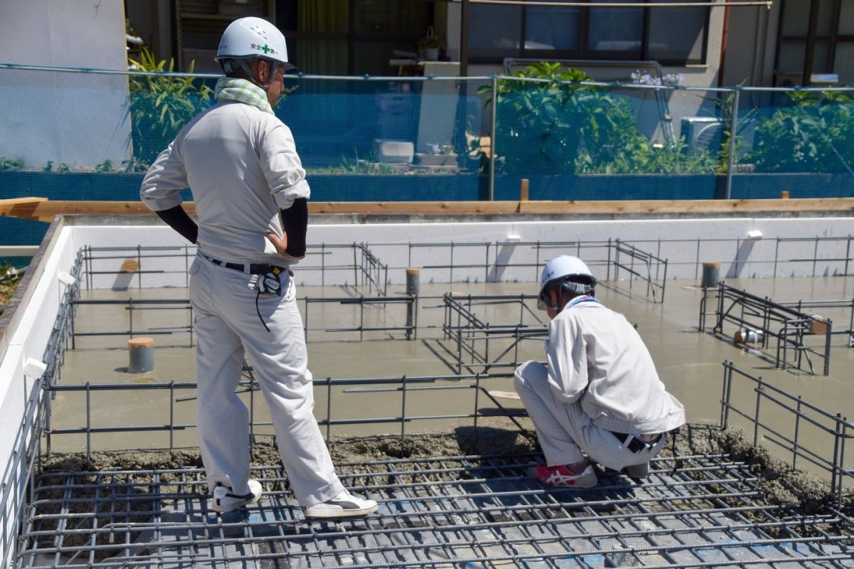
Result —
<instances>
[{"instance_id":1,"label":"white back foundation wall below the long wooden board","mask_svg":"<svg viewBox=\"0 0 854 569\"><path fill-rule=\"evenodd\" d=\"M748 232L757 235L757 231L761 236L748 235ZM73 232L76 247L127 247L120 252L97 252L97 256L112 258L93 263L93 271L119 271L125 258L139 260L137 275L93 275L92 287L185 287L187 284L190 261L186 253L192 255L195 249L165 225L74 226ZM143 240L140 235L144 235ZM702 264L707 262L720 263L722 278L834 276L844 274L845 259L854 253L850 250L851 240L847 239L851 235L854 235L854 218L313 224L308 229L308 243L313 248L293 270L297 284L359 284L360 277L352 268L354 249L341 246L365 243L388 266L388 275L383 274L382 278L387 278L389 284L406 282L407 267L419 268L424 283L536 282L542 264L561 253L579 255L596 276L604 279L606 265L616 254L607 243L621 240L667 259L669 280L700 278ZM837 239L816 243L816 237ZM538 248L537 242L547 244ZM551 246L553 242L564 245ZM163 249L141 253L133 250L141 245ZM314 248L320 246L323 247ZM357 251L357 262L360 254ZM621 262L630 261L621 257ZM321 267L325 268L323 276ZM653 278L664 278L663 265L652 269ZM646 269L635 261L635 270ZM617 277L628 278L629 273L623 270Z\"/></svg>"}]
</instances>

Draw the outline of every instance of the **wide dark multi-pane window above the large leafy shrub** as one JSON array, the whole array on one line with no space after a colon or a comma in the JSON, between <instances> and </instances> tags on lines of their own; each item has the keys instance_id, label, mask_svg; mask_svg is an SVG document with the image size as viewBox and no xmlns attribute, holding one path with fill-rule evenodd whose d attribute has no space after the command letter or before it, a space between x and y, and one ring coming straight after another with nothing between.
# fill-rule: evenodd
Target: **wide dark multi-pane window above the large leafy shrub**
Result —
<instances>
[{"instance_id":1,"label":"wide dark multi-pane window above the large leafy shrub","mask_svg":"<svg viewBox=\"0 0 854 569\"><path fill-rule=\"evenodd\" d=\"M499 63L506 57L542 57L655 59L664 65L705 62L708 7L595 6L600 2L639 1L643 2L588 0L590 8L472 4L469 9L469 61Z\"/></svg>"}]
</instances>

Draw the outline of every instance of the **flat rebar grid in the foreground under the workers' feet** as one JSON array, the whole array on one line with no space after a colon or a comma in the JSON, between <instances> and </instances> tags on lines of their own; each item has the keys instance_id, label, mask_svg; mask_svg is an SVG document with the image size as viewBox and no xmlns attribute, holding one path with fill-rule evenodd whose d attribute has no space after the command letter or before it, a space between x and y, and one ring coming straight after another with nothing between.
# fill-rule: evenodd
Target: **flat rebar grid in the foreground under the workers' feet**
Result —
<instances>
[{"instance_id":1,"label":"flat rebar grid in the foreground under the workers' feet","mask_svg":"<svg viewBox=\"0 0 854 569\"><path fill-rule=\"evenodd\" d=\"M643 483L600 468L589 490L540 485L541 455L342 465L380 510L324 521L304 517L280 467L255 468L265 495L221 516L198 468L43 473L17 566L854 566L850 517L759 503L728 456L680 459L654 460Z\"/></svg>"}]
</instances>

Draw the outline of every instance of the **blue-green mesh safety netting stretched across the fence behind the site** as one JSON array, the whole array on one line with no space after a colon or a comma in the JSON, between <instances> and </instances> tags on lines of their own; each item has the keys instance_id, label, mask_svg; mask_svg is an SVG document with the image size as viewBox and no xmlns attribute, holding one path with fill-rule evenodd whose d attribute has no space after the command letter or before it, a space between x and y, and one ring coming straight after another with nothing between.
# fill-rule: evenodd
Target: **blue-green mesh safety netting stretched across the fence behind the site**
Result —
<instances>
[{"instance_id":1,"label":"blue-green mesh safety netting stretched across the fence behind the site","mask_svg":"<svg viewBox=\"0 0 854 569\"><path fill-rule=\"evenodd\" d=\"M150 162L213 104L216 79L0 66L0 199L137 200ZM287 82L276 113L294 133L313 200L516 200L522 178L532 200L854 195L845 89ZM38 243L45 228L0 219L0 244Z\"/></svg>"}]
</instances>

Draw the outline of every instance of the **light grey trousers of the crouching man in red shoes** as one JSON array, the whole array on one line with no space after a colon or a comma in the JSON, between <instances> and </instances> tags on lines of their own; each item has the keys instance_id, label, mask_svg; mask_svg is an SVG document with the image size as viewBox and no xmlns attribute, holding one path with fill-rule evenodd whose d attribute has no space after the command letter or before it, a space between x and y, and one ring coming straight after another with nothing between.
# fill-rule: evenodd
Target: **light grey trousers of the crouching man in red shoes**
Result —
<instances>
[{"instance_id":1,"label":"light grey trousers of the crouching man in red shoes","mask_svg":"<svg viewBox=\"0 0 854 569\"><path fill-rule=\"evenodd\" d=\"M548 385L548 370L539 362L525 362L513 378L516 392L534 423L540 447L550 467L581 462L584 453L605 467L620 470L649 461L664 446L664 437L652 449L633 452L610 431L596 427L581 401L566 403Z\"/></svg>"}]
</instances>

